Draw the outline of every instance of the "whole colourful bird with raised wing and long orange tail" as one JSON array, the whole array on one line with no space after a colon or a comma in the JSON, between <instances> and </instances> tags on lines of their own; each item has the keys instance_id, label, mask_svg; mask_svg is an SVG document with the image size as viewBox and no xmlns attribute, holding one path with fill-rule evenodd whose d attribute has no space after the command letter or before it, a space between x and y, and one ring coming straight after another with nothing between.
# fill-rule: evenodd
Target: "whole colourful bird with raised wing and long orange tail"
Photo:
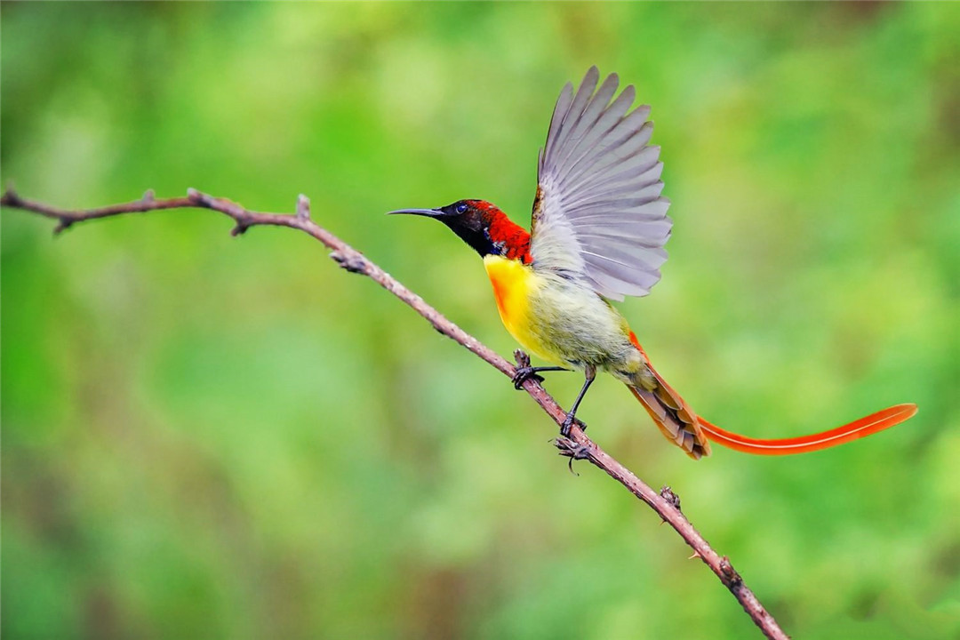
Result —
<instances>
[{"instance_id":1,"label":"whole colourful bird with raised wing and long orange tail","mask_svg":"<svg viewBox=\"0 0 960 640\"><path fill-rule=\"evenodd\" d=\"M599 86L598 86L599 85ZM544 371L582 370L583 387L561 425L569 436L597 372L623 382L660 432L694 460L710 441L756 455L825 449L895 426L915 415L899 404L799 438L749 438L708 422L663 380L612 301L646 296L660 281L673 222L661 195L660 147L650 144L651 107L633 107L636 89L590 67L579 87L566 83L540 149L531 228L492 202L460 200L390 214L433 218L483 258L507 331L549 366L517 367L514 385Z\"/></svg>"}]
</instances>

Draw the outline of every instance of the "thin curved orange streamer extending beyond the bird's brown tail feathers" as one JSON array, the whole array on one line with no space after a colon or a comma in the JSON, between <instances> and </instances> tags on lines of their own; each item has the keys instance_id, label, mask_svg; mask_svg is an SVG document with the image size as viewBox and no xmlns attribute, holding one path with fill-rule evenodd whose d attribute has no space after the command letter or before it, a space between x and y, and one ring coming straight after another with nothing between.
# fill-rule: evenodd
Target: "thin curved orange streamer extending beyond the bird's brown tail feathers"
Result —
<instances>
[{"instance_id":1,"label":"thin curved orange streamer extending beyond the bird's brown tail feathers","mask_svg":"<svg viewBox=\"0 0 960 640\"><path fill-rule=\"evenodd\" d=\"M700 428L708 439L725 447L730 447L743 453L757 456L789 456L795 453L807 453L828 449L829 447L844 444L858 438L866 438L878 431L889 429L907 420L917 413L917 405L901 404L882 409L876 414L853 420L836 429L830 429L819 434L801 436L799 438L783 439L756 439L747 438L720 427L710 424L707 420L697 416Z\"/></svg>"}]
</instances>

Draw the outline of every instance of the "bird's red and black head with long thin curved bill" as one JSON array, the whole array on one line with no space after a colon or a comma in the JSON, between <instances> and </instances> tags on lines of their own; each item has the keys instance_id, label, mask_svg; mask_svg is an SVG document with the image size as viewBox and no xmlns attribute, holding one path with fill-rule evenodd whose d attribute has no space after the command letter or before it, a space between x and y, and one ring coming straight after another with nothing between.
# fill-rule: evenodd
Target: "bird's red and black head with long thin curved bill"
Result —
<instances>
[{"instance_id":1,"label":"bird's red and black head with long thin curved bill","mask_svg":"<svg viewBox=\"0 0 960 640\"><path fill-rule=\"evenodd\" d=\"M397 209L395 213L439 220L481 256L503 255L530 262L530 234L515 225L496 205L483 200L458 200L439 209Z\"/></svg>"}]
</instances>

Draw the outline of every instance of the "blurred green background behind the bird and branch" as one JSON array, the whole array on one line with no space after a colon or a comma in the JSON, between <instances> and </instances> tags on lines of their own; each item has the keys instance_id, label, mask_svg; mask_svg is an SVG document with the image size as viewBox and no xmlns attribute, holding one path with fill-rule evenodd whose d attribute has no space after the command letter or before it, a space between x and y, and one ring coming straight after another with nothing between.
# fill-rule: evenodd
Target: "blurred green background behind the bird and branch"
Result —
<instances>
[{"instance_id":1,"label":"blurred green background behind the bird and branch","mask_svg":"<svg viewBox=\"0 0 960 640\"><path fill-rule=\"evenodd\" d=\"M664 376L758 437L921 412L691 462L604 380L590 433L796 637L955 638L958 33L949 4L4 3L2 179L63 206L305 193L506 354L477 256L382 214L526 224L561 86L617 71L674 202L662 282L621 305ZM527 397L305 235L2 225L5 638L756 637Z\"/></svg>"}]
</instances>

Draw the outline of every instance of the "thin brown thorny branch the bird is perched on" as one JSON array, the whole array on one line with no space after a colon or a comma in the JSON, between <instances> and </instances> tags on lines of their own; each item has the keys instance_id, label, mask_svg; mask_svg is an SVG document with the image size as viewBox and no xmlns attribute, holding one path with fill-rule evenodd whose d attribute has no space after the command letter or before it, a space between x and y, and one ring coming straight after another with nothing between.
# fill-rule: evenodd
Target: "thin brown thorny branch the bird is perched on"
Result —
<instances>
[{"instance_id":1,"label":"thin brown thorny branch the bird is perched on","mask_svg":"<svg viewBox=\"0 0 960 640\"><path fill-rule=\"evenodd\" d=\"M320 225L310 220L310 201L304 196L300 196L297 201L297 213L295 215L260 213L246 209L236 202L228 201L222 198L213 198L195 189L187 190L185 198L170 198L165 200L156 200L153 191L148 191L143 198L138 201L126 202L123 204L113 204L97 209L86 209L83 211L67 211L59 209L42 202L30 201L20 198L12 189L8 189L0 197L0 205L32 211L47 218L53 218L58 221L54 228L55 233L69 228L71 225L81 223L87 220L97 218L108 218L127 213L145 213L148 211L157 211L159 209L177 209L184 207L196 207L212 209L228 215L233 219L235 225L230 231L233 235L239 235L248 228L257 225L275 225L289 226L300 229L310 234L324 244L327 249L331 249L330 257L333 258L341 267L351 273L362 273L374 280L381 287L392 293L394 296L403 300L411 306L414 311L420 314L440 333L444 334L456 342L463 344L470 351L487 361L492 367L507 376L513 377L515 367L509 362L492 351L485 344L480 343L476 338L470 336L466 331L458 327L450 320L446 320L443 315L429 304L423 301L423 298L410 291L396 278L386 273L362 253L351 248L347 243L336 237ZM529 358L521 351L516 352L518 365L529 365ZM540 405L540 407L554 419L559 425L564 422L566 414L557 401L544 391L536 380L528 379L523 383L523 389ZM680 510L680 498L670 490L668 486L660 489L660 493L653 490L643 481L637 478L629 469L616 462L601 449L595 442L584 435L579 426L573 426L570 430L569 438L556 439L557 448L562 455L573 460L586 460L594 466L606 471L614 480L636 495L641 501L655 510L664 522L668 523L677 533L684 538L694 551L693 557L700 557L713 573L717 575L721 582L730 589L733 596L743 606L743 609L750 615L756 626L768 637L777 640L784 640L787 635L780 629L777 621L767 612L762 604L756 599L753 591L744 583L740 575L733 569L730 560L724 556L721 557L709 546L707 540L694 529L690 521L686 519L684 513Z\"/></svg>"}]
</instances>

